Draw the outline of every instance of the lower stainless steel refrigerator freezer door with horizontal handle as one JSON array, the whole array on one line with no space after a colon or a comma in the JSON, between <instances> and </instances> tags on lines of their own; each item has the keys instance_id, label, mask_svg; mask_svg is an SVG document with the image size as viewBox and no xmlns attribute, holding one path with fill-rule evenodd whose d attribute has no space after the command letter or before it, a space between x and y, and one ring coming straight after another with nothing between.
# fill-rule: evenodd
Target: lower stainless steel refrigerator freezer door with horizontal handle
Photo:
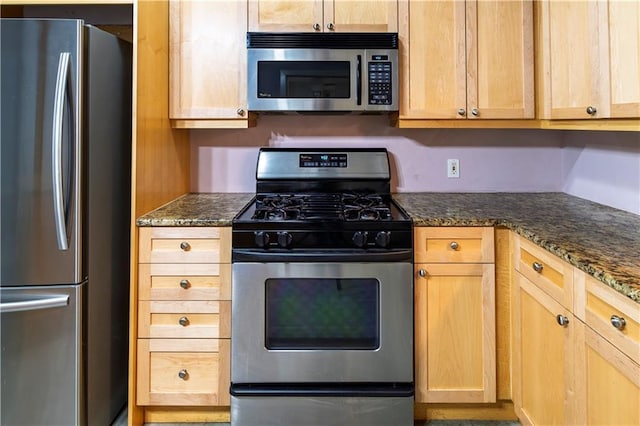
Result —
<instances>
[{"instance_id":1,"label":"lower stainless steel refrigerator freezer door with horizontal handle","mask_svg":"<svg viewBox=\"0 0 640 426\"><path fill-rule=\"evenodd\" d=\"M0 289L0 424L80 424L85 286Z\"/></svg>"}]
</instances>

